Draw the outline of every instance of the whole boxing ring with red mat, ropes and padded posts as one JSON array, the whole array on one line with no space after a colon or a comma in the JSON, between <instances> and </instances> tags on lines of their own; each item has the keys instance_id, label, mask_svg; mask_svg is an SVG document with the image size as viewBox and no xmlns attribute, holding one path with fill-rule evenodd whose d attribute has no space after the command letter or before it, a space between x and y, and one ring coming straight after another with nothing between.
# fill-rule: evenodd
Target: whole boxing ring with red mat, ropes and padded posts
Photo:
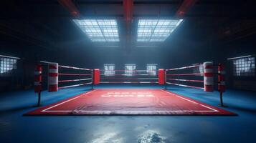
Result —
<instances>
[{"instance_id":1,"label":"whole boxing ring with red mat, ropes and padded posts","mask_svg":"<svg viewBox=\"0 0 256 143\"><path fill-rule=\"evenodd\" d=\"M215 73L214 68L217 69L217 73ZM59 69L72 69L78 71L78 73L59 73ZM190 69L193 69L192 73L188 72ZM115 74L106 75L104 74L105 71L100 69L62 66L57 63L48 63L47 70L47 90L49 92L57 92L64 88L77 86L90 86L91 90L75 97L40 107L25 115L236 115L224 109L170 92L171 89L168 86L172 84L203 89L207 94L207 92L214 91L214 75L217 75L220 105L224 107L222 101L224 67L222 64L214 65L212 62L204 62L204 64L175 69L158 69L157 74L154 75L149 74L146 70L131 70L128 72L130 74L123 73L125 70L115 70ZM42 77L40 77L42 75L40 73L42 73L42 65L37 65L35 92L38 93L39 98L42 92L42 84L40 84L42 83ZM67 76L75 77L75 79L62 79L62 77ZM189 78L185 79L185 77ZM70 82L75 82L76 84L63 84ZM196 83L196 85L190 83ZM95 89L94 85L96 84L160 84L163 88ZM38 105L40 104L39 102Z\"/></svg>"}]
</instances>

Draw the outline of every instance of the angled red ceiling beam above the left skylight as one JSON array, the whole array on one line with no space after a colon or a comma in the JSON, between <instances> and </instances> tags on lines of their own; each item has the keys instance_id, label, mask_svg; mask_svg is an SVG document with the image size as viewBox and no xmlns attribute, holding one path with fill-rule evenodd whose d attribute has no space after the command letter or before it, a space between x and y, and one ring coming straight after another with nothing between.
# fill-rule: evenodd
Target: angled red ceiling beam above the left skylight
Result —
<instances>
[{"instance_id":1,"label":"angled red ceiling beam above the left skylight","mask_svg":"<svg viewBox=\"0 0 256 143\"><path fill-rule=\"evenodd\" d=\"M72 0L57 0L59 3L67 9L67 11L70 11L70 14L75 17L80 16L80 12L77 9L77 6L73 3Z\"/></svg>"}]
</instances>

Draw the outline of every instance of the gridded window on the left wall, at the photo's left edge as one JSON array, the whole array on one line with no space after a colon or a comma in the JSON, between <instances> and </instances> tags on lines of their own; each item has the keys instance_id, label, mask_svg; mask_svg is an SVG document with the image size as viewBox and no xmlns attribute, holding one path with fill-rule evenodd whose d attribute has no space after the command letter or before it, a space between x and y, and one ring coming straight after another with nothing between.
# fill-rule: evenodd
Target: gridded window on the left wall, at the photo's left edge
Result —
<instances>
[{"instance_id":1,"label":"gridded window on the left wall, at the photo's left edge","mask_svg":"<svg viewBox=\"0 0 256 143\"><path fill-rule=\"evenodd\" d=\"M17 68L17 59L11 56L0 56L0 75L11 76L12 69Z\"/></svg>"}]
</instances>

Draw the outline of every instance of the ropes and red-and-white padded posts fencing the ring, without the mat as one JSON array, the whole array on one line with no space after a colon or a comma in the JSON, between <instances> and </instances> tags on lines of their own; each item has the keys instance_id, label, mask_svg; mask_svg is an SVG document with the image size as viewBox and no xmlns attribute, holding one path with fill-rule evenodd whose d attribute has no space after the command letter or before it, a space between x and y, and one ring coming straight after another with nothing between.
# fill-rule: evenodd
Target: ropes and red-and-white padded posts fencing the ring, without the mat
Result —
<instances>
[{"instance_id":1,"label":"ropes and red-and-white padded posts fencing the ring, without the mat","mask_svg":"<svg viewBox=\"0 0 256 143\"><path fill-rule=\"evenodd\" d=\"M225 90L225 81L224 81L224 66L222 64L214 65L212 62L204 62L204 64L195 64L192 66L184 66L174 69L158 69L156 74L151 74L148 70L113 70L114 73L108 75L100 73L100 69L85 69L75 66L63 66L57 63L42 62L43 64L37 64L34 71L34 92L38 93L38 104L40 104L41 92L42 92L42 76L47 75L47 89L48 92L57 92L58 89L65 89L70 87L78 87L82 85L91 84L92 89L94 84L161 84L165 85L167 89L167 84L172 84L181 87L189 87L194 89L204 89L205 92L214 91L214 75L218 76L218 91L220 97L221 107L225 107L223 104L222 93ZM47 65L46 65L47 64ZM47 74L42 74L42 67L47 68ZM200 67L203 68L203 72L200 71ZM214 68L217 67L217 73L214 73ZM199 68L198 71L193 71L193 73L181 73L181 70ZM74 69L78 71L77 73L66 73L59 72L59 69ZM89 73L81 73L81 71ZM107 70L109 71L109 70ZM112 70L111 70L112 71ZM118 73L115 72L130 72L130 73ZM179 73L169 73L179 71ZM143 72L146 72L143 73ZM133 77L136 76L136 77ZM151 77L145 77L151 76ZM59 79L59 77L74 77L75 79ZM177 77L177 78L175 78ZM182 77L182 78L181 78ZM203 79L185 79L185 77L196 77ZM102 81L101 81L102 80ZM59 87L59 84L79 82L78 84L65 85ZM178 83L175 83L178 82ZM189 84L181 84L180 82L186 83L195 83L195 84L204 84L204 87L197 87Z\"/></svg>"}]
</instances>

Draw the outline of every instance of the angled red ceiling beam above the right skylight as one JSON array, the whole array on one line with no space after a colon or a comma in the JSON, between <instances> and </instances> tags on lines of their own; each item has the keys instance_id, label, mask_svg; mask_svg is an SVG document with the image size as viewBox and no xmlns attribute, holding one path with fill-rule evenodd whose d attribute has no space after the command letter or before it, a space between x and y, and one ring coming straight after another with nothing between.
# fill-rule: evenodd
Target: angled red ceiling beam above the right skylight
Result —
<instances>
[{"instance_id":1,"label":"angled red ceiling beam above the right skylight","mask_svg":"<svg viewBox=\"0 0 256 143\"><path fill-rule=\"evenodd\" d=\"M197 0L184 0L179 7L178 11L176 12L176 16L184 16L189 9L196 3Z\"/></svg>"}]
</instances>

